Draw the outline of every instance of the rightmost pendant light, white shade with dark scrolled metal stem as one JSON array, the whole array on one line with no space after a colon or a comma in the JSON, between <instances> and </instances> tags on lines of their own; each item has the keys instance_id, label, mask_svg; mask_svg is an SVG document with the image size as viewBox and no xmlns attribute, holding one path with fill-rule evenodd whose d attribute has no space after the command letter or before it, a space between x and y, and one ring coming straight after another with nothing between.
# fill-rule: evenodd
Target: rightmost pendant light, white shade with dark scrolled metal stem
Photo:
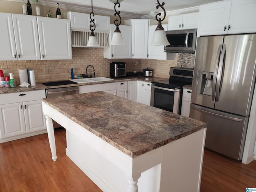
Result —
<instances>
[{"instance_id":1,"label":"rightmost pendant light, white shade with dark scrolled metal stem","mask_svg":"<svg viewBox=\"0 0 256 192\"><path fill-rule=\"evenodd\" d=\"M164 2L162 4L160 4L159 0L157 0L158 5L156 6L156 8L158 9L158 7L161 7L164 10L164 18L166 16L166 12L164 9ZM170 45L170 43L167 40L166 37L166 33L164 31L164 28L162 27L162 23L161 21L164 20L164 18L161 20L161 18L157 18L157 16L160 16L161 13L156 14L156 20L158 21L156 30L154 32L154 36L153 36L153 40L152 43L150 44L150 46L159 46L159 45Z\"/></svg>"}]
</instances>

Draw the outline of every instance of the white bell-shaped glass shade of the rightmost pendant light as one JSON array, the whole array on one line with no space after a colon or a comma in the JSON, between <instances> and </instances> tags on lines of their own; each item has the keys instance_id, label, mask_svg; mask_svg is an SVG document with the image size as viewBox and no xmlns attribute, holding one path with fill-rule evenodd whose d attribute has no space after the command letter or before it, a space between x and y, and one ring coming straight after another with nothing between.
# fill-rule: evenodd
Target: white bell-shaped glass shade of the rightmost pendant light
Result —
<instances>
[{"instance_id":1,"label":"white bell-shaped glass shade of the rightmost pendant light","mask_svg":"<svg viewBox=\"0 0 256 192\"><path fill-rule=\"evenodd\" d=\"M170 45L167 40L166 33L162 27L161 22L158 23L158 26L154 32L153 40L150 46L159 46L159 45Z\"/></svg>"}]
</instances>

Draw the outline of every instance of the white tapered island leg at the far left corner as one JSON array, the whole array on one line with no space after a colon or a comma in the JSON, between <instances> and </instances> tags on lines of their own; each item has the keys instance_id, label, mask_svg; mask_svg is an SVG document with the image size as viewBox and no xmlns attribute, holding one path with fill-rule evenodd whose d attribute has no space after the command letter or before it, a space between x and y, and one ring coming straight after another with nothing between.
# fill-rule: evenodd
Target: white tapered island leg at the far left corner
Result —
<instances>
[{"instance_id":1,"label":"white tapered island leg at the far left corner","mask_svg":"<svg viewBox=\"0 0 256 192\"><path fill-rule=\"evenodd\" d=\"M47 128L47 134L48 134L48 139L50 143L50 148L52 152L52 160L56 161L57 156L56 156L56 145L55 145L55 137L54 137L54 129L53 129L53 124L52 124L52 119L45 115L46 117L46 128Z\"/></svg>"}]
</instances>

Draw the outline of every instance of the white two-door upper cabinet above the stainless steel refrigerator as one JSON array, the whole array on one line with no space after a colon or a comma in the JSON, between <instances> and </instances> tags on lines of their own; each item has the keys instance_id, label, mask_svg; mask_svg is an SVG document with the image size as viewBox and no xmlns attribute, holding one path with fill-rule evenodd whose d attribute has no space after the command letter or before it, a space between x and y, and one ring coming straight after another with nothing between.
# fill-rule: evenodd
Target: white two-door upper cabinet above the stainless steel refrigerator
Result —
<instances>
[{"instance_id":1,"label":"white two-door upper cabinet above the stainless steel refrigerator","mask_svg":"<svg viewBox=\"0 0 256 192\"><path fill-rule=\"evenodd\" d=\"M256 31L256 1L226 0L200 6L198 35Z\"/></svg>"}]
</instances>

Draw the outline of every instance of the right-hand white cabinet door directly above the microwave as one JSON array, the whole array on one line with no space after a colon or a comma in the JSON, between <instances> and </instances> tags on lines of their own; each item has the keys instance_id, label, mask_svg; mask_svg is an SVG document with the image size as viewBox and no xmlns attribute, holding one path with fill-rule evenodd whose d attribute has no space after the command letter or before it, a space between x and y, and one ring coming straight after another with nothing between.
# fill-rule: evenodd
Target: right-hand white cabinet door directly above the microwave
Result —
<instances>
[{"instance_id":1,"label":"right-hand white cabinet door directly above the microwave","mask_svg":"<svg viewBox=\"0 0 256 192\"><path fill-rule=\"evenodd\" d=\"M183 14L182 29L198 28L199 12Z\"/></svg>"}]
</instances>

